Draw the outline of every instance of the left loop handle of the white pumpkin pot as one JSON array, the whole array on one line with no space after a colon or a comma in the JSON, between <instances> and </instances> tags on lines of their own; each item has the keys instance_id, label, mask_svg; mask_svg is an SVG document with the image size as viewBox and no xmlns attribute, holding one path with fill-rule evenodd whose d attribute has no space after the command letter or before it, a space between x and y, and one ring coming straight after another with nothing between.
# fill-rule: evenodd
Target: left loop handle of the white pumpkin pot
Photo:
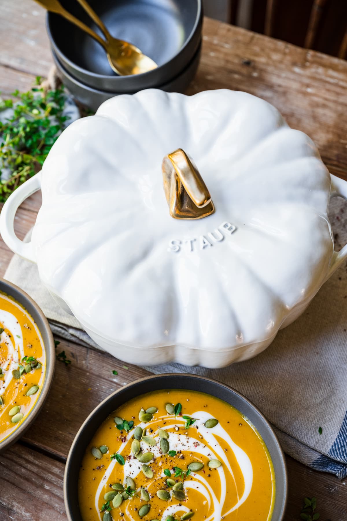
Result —
<instances>
[{"instance_id":1,"label":"left loop handle of the white pumpkin pot","mask_svg":"<svg viewBox=\"0 0 347 521\"><path fill-rule=\"evenodd\" d=\"M23 242L15 234L14 221L18 207L30 195L41 189L41 171L21 184L7 199L0 213L0 234L12 252L27 261L36 262L31 242Z\"/></svg>"}]
</instances>

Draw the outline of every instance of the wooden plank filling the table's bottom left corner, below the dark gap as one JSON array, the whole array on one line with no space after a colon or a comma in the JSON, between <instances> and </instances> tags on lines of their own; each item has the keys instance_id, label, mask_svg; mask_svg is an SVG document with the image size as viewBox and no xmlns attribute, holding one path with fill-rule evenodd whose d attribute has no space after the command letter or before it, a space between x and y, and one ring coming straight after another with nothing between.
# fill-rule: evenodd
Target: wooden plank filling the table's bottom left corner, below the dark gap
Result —
<instances>
[{"instance_id":1,"label":"wooden plank filling the table's bottom left corner, below the dark gap","mask_svg":"<svg viewBox=\"0 0 347 521\"><path fill-rule=\"evenodd\" d=\"M64 464L20 443L0 460L0 521L66 521Z\"/></svg>"}]
</instances>

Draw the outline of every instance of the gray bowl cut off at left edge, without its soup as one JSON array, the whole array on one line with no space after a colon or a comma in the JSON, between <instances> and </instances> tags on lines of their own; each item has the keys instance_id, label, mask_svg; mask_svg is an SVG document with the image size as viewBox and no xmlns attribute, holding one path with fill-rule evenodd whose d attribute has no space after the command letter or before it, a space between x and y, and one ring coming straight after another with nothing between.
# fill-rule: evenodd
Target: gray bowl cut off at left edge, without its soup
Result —
<instances>
[{"instance_id":1,"label":"gray bowl cut off at left edge, without its soup","mask_svg":"<svg viewBox=\"0 0 347 521\"><path fill-rule=\"evenodd\" d=\"M4 279L0 279L0 291L7 293L7 295L13 297L30 313L30 315L36 322L38 329L41 332L46 353L46 376L43 382L41 393L38 396L38 399L34 407L28 414L28 416L24 419L23 423L14 432L12 432L12 434L10 434L8 438L0 442L0 453L2 453L6 449L8 449L8 447L12 443L15 443L15 441L17 441L23 435L24 431L31 426L36 416L40 412L40 409L47 398L50 386L52 385L56 357L52 331L49 328L47 318L41 311L41 308L38 307L36 302L33 301L27 293L18 288L18 286L15 286L15 284L12 284L11 282L8 282Z\"/></svg>"}]
</instances>

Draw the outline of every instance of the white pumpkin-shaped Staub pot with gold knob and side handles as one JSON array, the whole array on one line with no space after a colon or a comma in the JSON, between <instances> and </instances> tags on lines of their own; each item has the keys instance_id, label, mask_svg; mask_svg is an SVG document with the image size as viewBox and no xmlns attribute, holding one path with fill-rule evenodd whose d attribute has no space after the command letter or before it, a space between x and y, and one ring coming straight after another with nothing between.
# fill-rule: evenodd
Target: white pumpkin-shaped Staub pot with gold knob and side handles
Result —
<instances>
[{"instance_id":1,"label":"white pumpkin-shaped Staub pot with gold knob and side handles","mask_svg":"<svg viewBox=\"0 0 347 521\"><path fill-rule=\"evenodd\" d=\"M346 187L260 98L147 90L72 123L0 232L114 356L222 367L263 351L347 257L327 217ZM14 215L40 188L25 244Z\"/></svg>"}]
</instances>

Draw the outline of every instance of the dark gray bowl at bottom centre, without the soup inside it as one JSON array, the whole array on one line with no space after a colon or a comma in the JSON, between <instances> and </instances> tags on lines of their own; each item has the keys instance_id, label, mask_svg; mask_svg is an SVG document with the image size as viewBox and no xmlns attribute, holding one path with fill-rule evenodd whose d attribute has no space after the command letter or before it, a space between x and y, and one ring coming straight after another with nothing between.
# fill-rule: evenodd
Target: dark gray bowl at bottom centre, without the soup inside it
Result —
<instances>
[{"instance_id":1,"label":"dark gray bowl at bottom centre, without the soup inside it","mask_svg":"<svg viewBox=\"0 0 347 521\"><path fill-rule=\"evenodd\" d=\"M64 474L64 501L69 521L82 521L78 505L78 477L83 455L97 426L123 403L140 394L161 389L187 389L201 391L236 407L258 430L271 455L275 469L276 498L272 521L284 519L287 503L287 469L278 439L260 411L245 396L224 383L195 375L182 373L156 375L129 383L110 394L89 414L78 431L70 448Z\"/></svg>"}]
</instances>

